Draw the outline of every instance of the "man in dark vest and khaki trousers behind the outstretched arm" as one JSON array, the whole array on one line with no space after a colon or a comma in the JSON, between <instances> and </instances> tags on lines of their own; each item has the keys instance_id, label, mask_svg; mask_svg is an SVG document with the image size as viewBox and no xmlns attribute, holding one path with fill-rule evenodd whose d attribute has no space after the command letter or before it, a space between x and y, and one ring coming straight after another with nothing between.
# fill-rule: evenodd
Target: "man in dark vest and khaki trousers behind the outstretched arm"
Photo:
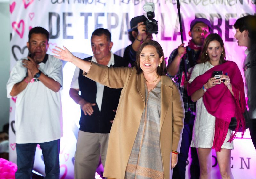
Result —
<instances>
[{"instance_id":1,"label":"man in dark vest and khaki trousers behind the outstretched arm","mask_svg":"<svg viewBox=\"0 0 256 179\"><path fill-rule=\"evenodd\" d=\"M84 60L108 67L127 65L122 57L111 52L112 46L108 29L96 29L91 37L93 56ZM121 89L103 86L84 77L82 73L81 69L76 68L69 91L70 97L81 106L74 175L75 179L92 179L95 177L100 156L103 167L105 164L109 132Z\"/></svg>"}]
</instances>

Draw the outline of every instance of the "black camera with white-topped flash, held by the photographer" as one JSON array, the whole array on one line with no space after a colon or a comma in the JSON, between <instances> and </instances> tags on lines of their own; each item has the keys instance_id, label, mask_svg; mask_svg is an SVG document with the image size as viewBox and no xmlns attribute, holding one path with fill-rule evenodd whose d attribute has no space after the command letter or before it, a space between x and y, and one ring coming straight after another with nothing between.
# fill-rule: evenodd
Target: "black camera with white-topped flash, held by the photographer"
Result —
<instances>
[{"instance_id":1,"label":"black camera with white-topped flash, held by the photographer","mask_svg":"<svg viewBox=\"0 0 256 179\"><path fill-rule=\"evenodd\" d=\"M158 33L158 24L157 20L153 19L155 17L155 6L154 3L146 3L143 6L143 9L147 12L148 20L146 20L146 31L151 34L157 34Z\"/></svg>"}]
</instances>

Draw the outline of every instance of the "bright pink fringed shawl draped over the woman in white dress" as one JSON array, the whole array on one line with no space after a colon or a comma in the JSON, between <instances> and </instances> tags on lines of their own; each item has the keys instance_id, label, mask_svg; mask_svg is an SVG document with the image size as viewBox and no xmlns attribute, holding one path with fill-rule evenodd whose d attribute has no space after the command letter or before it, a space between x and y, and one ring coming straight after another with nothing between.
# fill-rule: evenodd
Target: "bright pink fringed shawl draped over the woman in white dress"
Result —
<instances>
[{"instance_id":1,"label":"bright pink fringed shawl draped over the woman in white dress","mask_svg":"<svg viewBox=\"0 0 256 179\"><path fill-rule=\"evenodd\" d=\"M203 96L207 111L216 117L212 148L220 151L232 117L236 117L237 125L228 142L231 142L236 137L239 129L242 129L242 137L244 136L245 119L243 113L246 108L246 102L242 75L236 63L232 61L226 61L197 76L191 84L188 83L188 95L192 95L195 91L201 89L208 82L208 79L212 77L214 71L223 71L223 74L228 73L234 93L233 96L229 89L221 83L208 89Z\"/></svg>"}]
</instances>

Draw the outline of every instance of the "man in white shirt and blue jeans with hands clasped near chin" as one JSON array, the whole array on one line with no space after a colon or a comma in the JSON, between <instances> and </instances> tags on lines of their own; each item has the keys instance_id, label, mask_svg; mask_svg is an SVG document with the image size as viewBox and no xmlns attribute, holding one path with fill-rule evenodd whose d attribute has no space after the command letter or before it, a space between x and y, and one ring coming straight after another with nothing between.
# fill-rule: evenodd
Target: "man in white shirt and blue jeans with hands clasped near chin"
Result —
<instances>
[{"instance_id":1,"label":"man in white shirt and blue jeans with hands clasped near chin","mask_svg":"<svg viewBox=\"0 0 256 179\"><path fill-rule=\"evenodd\" d=\"M62 137L62 62L46 54L49 32L42 27L29 31L30 55L13 67L7 97L17 97L15 129L18 170L16 178L32 176L37 144L42 149L45 178L59 179Z\"/></svg>"}]
</instances>

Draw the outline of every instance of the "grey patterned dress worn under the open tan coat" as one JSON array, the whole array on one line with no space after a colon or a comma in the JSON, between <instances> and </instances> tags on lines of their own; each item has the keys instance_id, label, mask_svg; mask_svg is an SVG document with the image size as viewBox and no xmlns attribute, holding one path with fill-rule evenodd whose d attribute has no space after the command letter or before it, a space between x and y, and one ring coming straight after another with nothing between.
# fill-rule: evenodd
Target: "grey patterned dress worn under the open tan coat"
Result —
<instances>
[{"instance_id":1,"label":"grey patterned dress worn under the open tan coat","mask_svg":"<svg viewBox=\"0 0 256 179\"><path fill-rule=\"evenodd\" d=\"M125 179L163 179L160 149L161 81L148 92L145 108L126 167Z\"/></svg>"}]
</instances>

